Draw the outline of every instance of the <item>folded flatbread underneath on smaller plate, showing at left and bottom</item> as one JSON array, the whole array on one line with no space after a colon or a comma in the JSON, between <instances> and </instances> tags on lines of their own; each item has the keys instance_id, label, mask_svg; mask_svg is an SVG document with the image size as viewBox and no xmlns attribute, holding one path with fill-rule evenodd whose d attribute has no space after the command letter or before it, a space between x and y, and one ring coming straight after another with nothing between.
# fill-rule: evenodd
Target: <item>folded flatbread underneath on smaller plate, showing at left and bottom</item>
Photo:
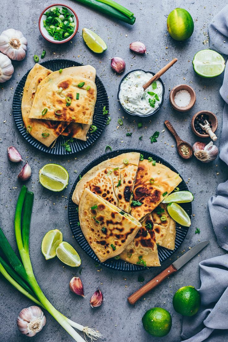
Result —
<instances>
[{"instance_id":1,"label":"folded flatbread underneath on smaller plate, showing at left and bottom","mask_svg":"<svg viewBox=\"0 0 228 342\"><path fill-rule=\"evenodd\" d=\"M68 122L56 122L50 120L29 119L29 113L32 106L33 98L35 96L37 87L48 75L52 73L51 70L46 69L40 64L29 71L22 96L22 118L25 128L31 136L44 144L50 146L53 141L65 130ZM44 136L43 136L43 135Z\"/></svg>"}]
</instances>

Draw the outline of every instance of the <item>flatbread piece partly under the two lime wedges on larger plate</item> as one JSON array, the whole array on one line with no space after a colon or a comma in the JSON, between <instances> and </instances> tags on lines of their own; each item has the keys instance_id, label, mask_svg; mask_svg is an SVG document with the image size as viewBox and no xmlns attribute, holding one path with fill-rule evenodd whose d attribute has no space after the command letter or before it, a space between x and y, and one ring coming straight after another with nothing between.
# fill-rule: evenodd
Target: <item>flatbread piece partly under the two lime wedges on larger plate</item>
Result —
<instances>
[{"instance_id":1,"label":"flatbread piece partly under the two lime wedges on larger plate","mask_svg":"<svg viewBox=\"0 0 228 342\"><path fill-rule=\"evenodd\" d=\"M160 203L152 213L153 230L157 244L162 247L174 250L176 238L176 222L171 218L167 211L167 205ZM161 218L166 218L162 221Z\"/></svg>"}]
</instances>

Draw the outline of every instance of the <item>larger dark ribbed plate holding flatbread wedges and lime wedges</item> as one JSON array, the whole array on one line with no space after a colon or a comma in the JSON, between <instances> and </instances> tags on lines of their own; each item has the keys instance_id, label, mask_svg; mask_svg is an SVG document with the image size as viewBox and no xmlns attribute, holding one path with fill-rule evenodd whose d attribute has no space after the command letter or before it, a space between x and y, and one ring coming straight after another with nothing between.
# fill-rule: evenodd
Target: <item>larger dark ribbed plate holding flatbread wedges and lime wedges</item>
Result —
<instances>
[{"instance_id":1,"label":"larger dark ribbed plate holding flatbread wedges and lime wedges","mask_svg":"<svg viewBox=\"0 0 228 342\"><path fill-rule=\"evenodd\" d=\"M100 162L102 162L106 159L113 158L113 157L118 156L121 153L127 153L127 152L142 153L144 155L144 159L148 159L148 157L152 157L153 160L156 160L157 162L162 163L163 165L169 167L174 172L178 173L178 171L175 170L174 167L172 165L170 165L170 163L168 163L167 161L165 161L164 159L158 157L157 155L155 155L153 153L150 153L150 152L147 152L144 150L139 150L139 149L124 148L124 149L119 149L119 150L115 150L115 151L106 153L106 154L96 158L88 166L86 166L86 168L84 168L84 170L80 173L80 175L83 176L86 172L88 172L90 169L92 169L92 167L96 166L97 164L99 164ZM104 265L106 267L109 267L112 269L117 269L118 271L142 271L142 269L144 269L143 266L133 265L133 264L130 264L130 263L123 261L123 260L120 260L120 259L115 260L114 258L112 258L112 259L108 259L105 262L101 263L99 261L99 259L97 258L96 254L94 253L94 251L92 250L92 248L88 244L87 240L85 239L85 237L81 231L80 226L78 225L79 218L78 218L78 213L76 212L76 208L78 206L75 203L73 203L73 201L71 199L73 191L75 190L76 184L79 181L80 175L78 176L78 178L75 181L75 184L72 187L72 190L70 193L70 198L69 198L69 205L68 205L68 216L69 216L70 228L71 228L73 236L76 238L79 246L95 262L97 262L101 265ZM182 182L178 185L178 187L180 190L187 190L188 191L188 187L187 187L185 181L183 180L183 178L182 178ZM188 215L191 218L191 203L182 203L181 206L186 210L186 212L188 213ZM180 247L180 245L184 241L187 233L188 233L188 227L183 227L183 226L180 226L179 224L176 223L175 249L173 251L171 251L170 249L167 249L167 248L164 248L161 246L158 247L158 254L159 254L159 259L160 259L161 263L163 261L165 261L166 259L170 258L171 255Z\"/></svg>"}]
</instances>

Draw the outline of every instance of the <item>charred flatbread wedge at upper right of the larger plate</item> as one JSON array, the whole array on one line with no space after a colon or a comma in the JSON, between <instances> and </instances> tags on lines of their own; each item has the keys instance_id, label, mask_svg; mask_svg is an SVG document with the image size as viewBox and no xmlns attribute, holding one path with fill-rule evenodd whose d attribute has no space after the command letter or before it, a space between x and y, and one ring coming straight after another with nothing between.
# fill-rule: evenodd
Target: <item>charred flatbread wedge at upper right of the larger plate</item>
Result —
<instances>
[{"instance_id":1,"label":"charred flatbread wedge at upper right of the larger plate","mask_svg":"<svg viewBox=\"0 0 228 342\"><path fill-rule=\"evenodd\" d=\"M143 220L182 181L180 176L161 163L144 159L139 161L133 200L142 203L131 208L136 220Z\"/></svg>"}]
</instances>

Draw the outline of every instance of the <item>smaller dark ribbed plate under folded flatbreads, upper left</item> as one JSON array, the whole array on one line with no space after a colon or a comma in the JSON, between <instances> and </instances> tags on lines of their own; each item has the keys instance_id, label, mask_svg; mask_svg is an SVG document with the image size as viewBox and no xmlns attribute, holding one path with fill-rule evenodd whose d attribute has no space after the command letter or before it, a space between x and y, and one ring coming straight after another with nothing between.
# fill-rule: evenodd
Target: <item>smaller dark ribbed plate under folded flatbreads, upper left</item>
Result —
<instances>
[{"instance_id":1,"label":"smaller dark ribbed plate under folded flatbreads, upper left","mask_svg":"<svg viewBox=\"0 0 228 342\"><path fill-rule=\"evenodd\" d=\"M64 69L64 68L69 68L71 66L82 65L80 63L77 63L75 61L70 61L70 60L52 60L52 61L46 61L40 64L43 65L45 68L48 68L53 71ZM96 76L96 79L95 79L95 83L97 86L97 100L96 100L96 105L95 105L95 110L94 110L94 115L93 115L93 125L97 127L97 130L94 133L88 132L87 134L88 139L86 141L74 139L73 142L70 143L71 152L67 152L65 150L65 147L62 146L62 144L68 139L67 136L63 137L62 135L60 135L56 141L55 146L51 148L51 147L46 147L45 145L41 144L39 141L34 139L30 134L26 132L26 129L24 127L24 122L22 119L21 102L22 102L23 88L25 86L25 81L26 81L29 71L25 74L25 76L22 77L21 81L18 83L17 88L14 93L14 97L13 97L14 120L16 122L19 132L22 134L25 140L27 140L27 142L31 144L32 146L38 148L40 151L51 153L54 155L69 155L72 153L79 152L83 150L84 148L92 145L97 140L99 135L102 133L106 125L108 115L103 115L103 107L106 106L106 109L109 110L108 95L105 90L104 84L99 79L99 77Z\"/></svg>"}]
</instances>

